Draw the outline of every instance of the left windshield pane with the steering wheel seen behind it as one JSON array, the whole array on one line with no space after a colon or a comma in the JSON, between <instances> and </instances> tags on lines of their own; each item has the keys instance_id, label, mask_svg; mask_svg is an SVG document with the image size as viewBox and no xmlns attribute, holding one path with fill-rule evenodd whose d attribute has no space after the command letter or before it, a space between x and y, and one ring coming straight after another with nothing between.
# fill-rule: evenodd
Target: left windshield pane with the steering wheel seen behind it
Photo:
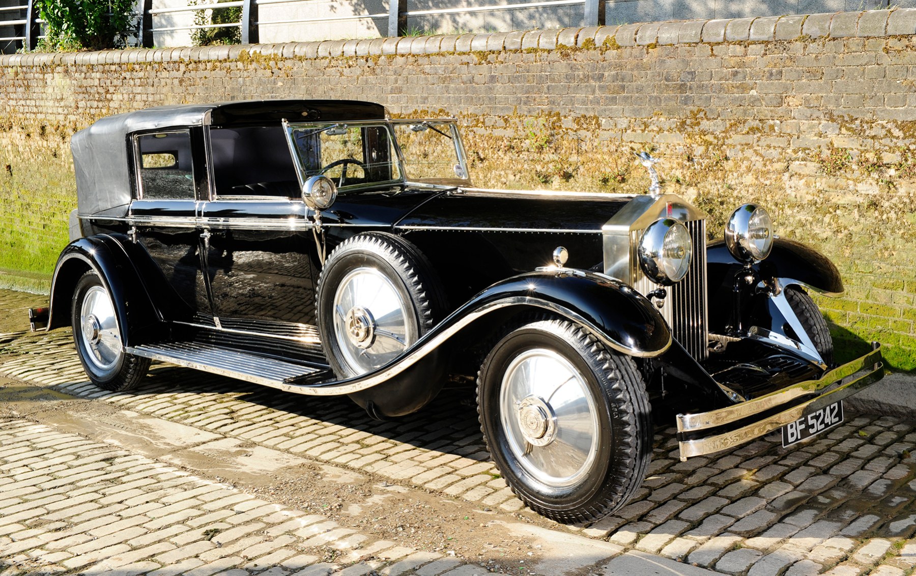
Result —
<instances>
[{"instance_id":1,"label":"left windshield pane with the steering wheel seen behind it","mask_svg":"<svg viewBox=\"0 0 916 576\"><path fill-rule=\"evenodd\" d=\"M338 188L402 179L390 129L378 125L287 125L301 181L323 175Z\"/></svg>"}]
</instances>

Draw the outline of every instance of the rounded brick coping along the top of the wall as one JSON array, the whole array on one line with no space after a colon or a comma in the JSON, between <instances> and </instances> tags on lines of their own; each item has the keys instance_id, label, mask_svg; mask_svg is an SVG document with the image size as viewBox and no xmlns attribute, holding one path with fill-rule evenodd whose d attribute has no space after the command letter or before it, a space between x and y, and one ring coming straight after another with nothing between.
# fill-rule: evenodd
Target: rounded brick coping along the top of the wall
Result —
<instances>
[{"instance_id":1,"label":"rounded brick coping along the top of the wall","mask_svg":"<svg viewBox=\"0 0 916 576\"><path fill-rule=\"evenodd\" d=\"M243 51L281 58L353 56L419 56L437 53L519 49L583 48L588 40L602 46L649 46L793 40L796 38L870 38L916 34L916 8L836 12L796 16L763 16L678 22L645 22L623 26L560 28L487 34L323 40L235 46L169 49L124 49L96 52L13 54L0 66L55 64L94 65L176 60L237 60Z\"/></svg>"}]
</instances>

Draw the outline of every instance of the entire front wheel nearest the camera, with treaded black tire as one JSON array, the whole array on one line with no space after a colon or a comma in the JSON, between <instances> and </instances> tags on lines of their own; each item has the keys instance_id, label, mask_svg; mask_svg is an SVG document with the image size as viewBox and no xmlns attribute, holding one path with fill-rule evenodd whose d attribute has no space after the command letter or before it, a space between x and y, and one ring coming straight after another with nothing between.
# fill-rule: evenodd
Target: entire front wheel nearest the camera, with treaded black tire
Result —
<instances>
[{"instance_id":1,"label":"entire front wheel nearest the camera, with treaded black tire","mask_svg":"<svg viewBox=\"0 0 916 576\"><path fill-rule=\"evenodd\" d=\"M586 440L587 448L572 446L567 440L588 436L583 434L582 420L567 419L571 418L569 414L558 417L554 411L570 411L568 407L574 403L568 401L564 405L561 398L558 406L553 407L549 401L566 384L558 386L547 400L543 395L530 394L518 402L514 389L518 382L533 383L538 377L515 380L513 370L520 370L524 375L537 374L533 369L535 364L530 364L529 372L525 372L529 366L524 364L532 358L535 363L540 362L539 354L543 355L543 351L549 355L544 356L548 364L540 364L541 374L545 373L545 365L548 370L554 365L572 366L578 377L564 381L573 382L571 386L574 386L564 394L571 398L580 394L583 398L586 394L591 397L587 412L590 431L596 432L596 436ZM564 360L553 364L550 354ZM556 378L560 379L562 376ZM536 399L529 401L532 397ZM543 404L538 404L538 397L547 405L547 410ZM533 441L546 441L551 435L554 440L546 446L535 446L529 443L529 436L523 435L525 449L519 457L518 434L523 426L521 422L526 419L525 410L521 408L529 402L535 408L525 409L532 409L535 414L541 409L544 411L540 414L548 415L543 423L538 421L541 428L547 429L546 434ZM507 418L512 408L504 410L505 406L518 408L517 421ZM589 522L607 516L627 504L646 475L652 451L652 424L649 397L638 368L632 359L609 351L571 321L527 321L507 331L487 354L481 367L477 379L477 409L481 430L496 466L513 492L542 516L563 523ZM555 421L552 432L548 424L550 415ZM540 417L535 420L537 418ZM536 430L530 437L537 433L540 432ZM557 443L556 451L551 449L553 443ZM539 455L537 451L543 452ZM590 458L588 454L591 453L594 457ZM578 463L577 455L582 456L583 462ZM558 461L557 457L567 462ZM539 460L545 462L540 469ZM564 463L571 462L571 466L564 468ZM566 477L551 476L551 467L571 473ZM555 480L561 478L562 481Z\"/></svg>"}]
</instances>

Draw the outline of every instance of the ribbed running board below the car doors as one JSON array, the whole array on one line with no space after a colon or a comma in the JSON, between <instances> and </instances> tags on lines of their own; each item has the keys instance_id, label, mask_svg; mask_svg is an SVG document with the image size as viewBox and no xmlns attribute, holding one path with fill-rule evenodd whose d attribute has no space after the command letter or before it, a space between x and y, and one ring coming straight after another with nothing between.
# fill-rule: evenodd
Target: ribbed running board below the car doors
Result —
<instances>
[{"instance_id":1,"label":"ribbed running board below the car doors","mask_svg":"<svg viewBox=\"0 0 916 576\"><path fill-rule=\"evenodd\" d=\"M168 342L130 346L126 353L151 360L170 362L211 374L229 376L245 382L280 388L288 392L331 396L331 389L312 387L333 379L331 370L321 364L292 364L255 354L220 348L198 342Z\"/></svg>"}]
</instances>

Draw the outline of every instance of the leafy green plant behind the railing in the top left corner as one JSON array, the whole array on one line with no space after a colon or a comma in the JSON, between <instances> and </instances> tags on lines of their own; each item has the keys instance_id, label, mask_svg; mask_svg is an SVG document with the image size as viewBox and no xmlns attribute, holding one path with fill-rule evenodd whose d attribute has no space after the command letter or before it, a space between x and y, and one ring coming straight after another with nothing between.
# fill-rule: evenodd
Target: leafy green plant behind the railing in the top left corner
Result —
<instances>
[{"instance_id":1,"label":"leafy green plant behind the railing in the top left corner","mask_svg":"<svg viewBox=\"0 0 916 576\"><path fill-rule=\"evenodd\" d=\"M47 24L39 49L124 48L136 32L135 0L38 0Z\"/></svg>"}]
</instances>

